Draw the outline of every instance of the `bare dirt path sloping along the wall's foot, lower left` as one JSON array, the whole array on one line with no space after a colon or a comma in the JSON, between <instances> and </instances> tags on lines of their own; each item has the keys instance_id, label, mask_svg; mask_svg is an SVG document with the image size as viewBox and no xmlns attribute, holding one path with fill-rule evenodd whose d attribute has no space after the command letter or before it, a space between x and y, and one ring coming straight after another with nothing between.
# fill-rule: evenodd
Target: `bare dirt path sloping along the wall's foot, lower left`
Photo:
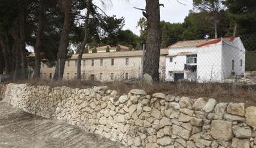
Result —
<instances>
[{"instance_id":1,"label":"bare dirt path sloping along the wall's foot, lower left","mask_svg":"<svg viewBox=\"0 0 256 148\"><path fill-rule=\"evenodd\" d=\"M119 148L121 144L77 126L38 117L0 101L1 148Z\"/></svg>"}]
</instances>

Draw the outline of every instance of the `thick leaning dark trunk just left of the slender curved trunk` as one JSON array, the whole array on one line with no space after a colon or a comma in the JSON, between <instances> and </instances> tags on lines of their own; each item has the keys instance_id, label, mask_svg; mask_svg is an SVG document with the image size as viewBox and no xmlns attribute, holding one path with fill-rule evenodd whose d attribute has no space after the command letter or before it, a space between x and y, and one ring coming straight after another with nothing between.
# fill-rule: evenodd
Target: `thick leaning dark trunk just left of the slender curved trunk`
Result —
<instances>
[{"instance_id":1,"label":"thick leaning dark trunk just left of the slender curved trunk","mask_svg":"<svg viewBox=\"0 0 256 148\"><path fill-rule=\"evenodd\" d=\"M53 76L54 80L62 80L63 78L67 47L69 46L70 11L72 9L72 2L72 0L64 1L64 24L61 31L61 39L59 41L58 60Z\"/></svg>"}]
</instances>

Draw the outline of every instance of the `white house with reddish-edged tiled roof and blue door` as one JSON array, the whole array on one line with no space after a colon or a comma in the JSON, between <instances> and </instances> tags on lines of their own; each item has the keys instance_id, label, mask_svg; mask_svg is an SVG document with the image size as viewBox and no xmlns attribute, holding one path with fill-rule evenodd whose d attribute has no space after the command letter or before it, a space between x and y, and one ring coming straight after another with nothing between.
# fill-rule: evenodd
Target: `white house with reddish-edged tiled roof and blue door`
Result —
<instances>
[{"instance_id":1,"label":"white house with reddish-edged tiled roof and blue door","mask_svg":"<svg viewBox=\"0 0 256 148\"><path fill-rule=\"evenodd\" d=\"M166 81L221 82L244 72L245 48L240 38L179 41L169 46L166 56Z\"/></svg>"}]
</instances>

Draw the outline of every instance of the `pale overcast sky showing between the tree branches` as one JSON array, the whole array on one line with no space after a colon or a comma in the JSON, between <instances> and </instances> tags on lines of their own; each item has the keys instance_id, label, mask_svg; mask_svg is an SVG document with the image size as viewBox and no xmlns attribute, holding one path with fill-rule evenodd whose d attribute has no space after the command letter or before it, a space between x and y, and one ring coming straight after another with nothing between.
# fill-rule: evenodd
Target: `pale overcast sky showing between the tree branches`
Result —
<instances>
[{"instance_id":1,"label":"pale overcast sky showing between the tree branches","mask_svg":"<svg viewBox=\"0 0 256 148\"><path fill-rule=\"evenodd\" d=\"M164 4L161 7L161 20L171 23L184 22L185 17L189 14L189 10L192 9L192 0L180 0L186 6L179 4L176 0L160 0L160 4ZM105 8L106 14L116 15L118 18L124 17L126 25L124 30L129 29L136 35L139 35L139 28L136 28L137 21L140 17L143 17L142 11L134 9L132 7L139 7L145 9L145 0L113 0L112 6Z\"/></svg>"}]
</instances>

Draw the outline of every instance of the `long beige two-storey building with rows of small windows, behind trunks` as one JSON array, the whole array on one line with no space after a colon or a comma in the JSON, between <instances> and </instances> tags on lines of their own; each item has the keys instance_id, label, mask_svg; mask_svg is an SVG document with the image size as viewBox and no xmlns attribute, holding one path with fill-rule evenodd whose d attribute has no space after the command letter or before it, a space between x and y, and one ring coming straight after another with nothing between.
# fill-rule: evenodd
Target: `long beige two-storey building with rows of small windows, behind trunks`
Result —
<instances>
[{"instance_id":1,"label":"long beige two-storey building with rows of small windows, behind trunks","mask_svg":"<svg viewBox=\"0 0 256 148\"><path fill-rule=\"evenodd\" d=\"M114 81L139 79L142 76L143 51L120 51L83 54L81 74L83 80ZM165 78L165 61L168 49L160 52L160 78ZM72 80L77 76L78 54L66 60L64 80ZM55 67L41 64L41 78L53 78Z\"/></svg>"}]
</instances>

